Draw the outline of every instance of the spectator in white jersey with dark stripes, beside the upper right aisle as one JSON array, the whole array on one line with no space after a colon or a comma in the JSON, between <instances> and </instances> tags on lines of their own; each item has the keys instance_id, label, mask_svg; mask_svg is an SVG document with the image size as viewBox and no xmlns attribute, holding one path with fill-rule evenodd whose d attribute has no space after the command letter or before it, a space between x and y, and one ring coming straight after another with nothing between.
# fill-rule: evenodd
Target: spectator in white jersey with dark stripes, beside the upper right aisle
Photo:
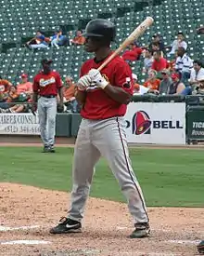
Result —
<instances>
[{"instance_id":1,"label":"spectator in white jersey with dark stripes, beside the upper right aisle","mask_svg":"<svg viewBox=\"0 0 204 256\"><path fill-rule=\"evenodd\" d=\"M178 57L175 61L175 71L181 75L181 81L186 85L190 78L191 69L193 68L193 61L185 53L185 48L178 48Z\"/></svg>"}]
</instances>

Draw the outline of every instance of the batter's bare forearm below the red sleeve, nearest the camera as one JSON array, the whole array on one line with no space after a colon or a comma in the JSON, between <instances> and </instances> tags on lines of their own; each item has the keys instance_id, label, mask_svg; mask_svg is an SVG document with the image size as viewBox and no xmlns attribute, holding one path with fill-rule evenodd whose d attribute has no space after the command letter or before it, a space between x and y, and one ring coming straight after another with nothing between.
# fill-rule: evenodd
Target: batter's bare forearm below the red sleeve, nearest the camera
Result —
<instances>
[{"instance_id":1,"label":"batter's bare forearm below the red sleeve, nearest the camera","mask_svg":"<svg viewBox=\"0 0 204 256\"><path fill-rule=\"evenodd\" d=\"M108 85L106 88L104 88L104 91L112 100L121 104L128 104L132 99L132 95L126 92L123 88L117 88Z\"/></svg>"}]
</instances>

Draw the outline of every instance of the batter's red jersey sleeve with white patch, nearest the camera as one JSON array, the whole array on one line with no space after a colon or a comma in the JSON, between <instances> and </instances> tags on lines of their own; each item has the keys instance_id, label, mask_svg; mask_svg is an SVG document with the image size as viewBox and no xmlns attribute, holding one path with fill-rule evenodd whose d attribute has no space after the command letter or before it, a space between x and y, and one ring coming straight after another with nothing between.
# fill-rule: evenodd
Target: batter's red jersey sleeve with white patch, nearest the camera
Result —
<instances>
[{"instance_id":1,"label":"batter's red jersey sleeve with white patch, nearest the camera","mask_svg":"<svg viewBox=\"0 0 204 256\"><path fill-rule=\"evenodd\" d=\"M134 94L133 74L130 66L126 62L119 62L115 68L114 85L123 88L130 94Z\"/></svg>"}]
</instances>

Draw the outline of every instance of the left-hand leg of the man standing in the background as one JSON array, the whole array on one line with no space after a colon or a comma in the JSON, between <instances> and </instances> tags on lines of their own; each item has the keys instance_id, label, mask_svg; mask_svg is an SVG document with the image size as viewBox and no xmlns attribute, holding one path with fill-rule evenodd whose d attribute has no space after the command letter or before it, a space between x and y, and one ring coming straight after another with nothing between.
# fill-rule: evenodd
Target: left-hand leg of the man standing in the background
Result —
<instances>
[{"instance_id":1,"label":"left-hand leg of the man standing in the background","mask_svg":"<svg viewBox=\"0 0 204 256\"><path fill-rule=\"evenodd\" d=\"M48 139L46 133L46 99L40 97L37 102L38 117L40 123L41 140L44 143L44 152L48 152Z\"/></svg>"}]
</instances>

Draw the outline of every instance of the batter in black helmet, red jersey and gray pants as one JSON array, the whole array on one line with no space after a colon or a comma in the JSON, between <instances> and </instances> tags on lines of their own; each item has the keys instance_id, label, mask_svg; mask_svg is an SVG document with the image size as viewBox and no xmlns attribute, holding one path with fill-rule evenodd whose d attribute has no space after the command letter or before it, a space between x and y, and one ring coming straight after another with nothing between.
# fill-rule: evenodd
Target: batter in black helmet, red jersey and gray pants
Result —
<instances>
[{"instance_id":1,"label":"batter in black helmet, red jersey and gray pants","mask_svg":"<svg viewBox=\"0 0 204 256\"><path fill-rule=\"evenodd\" d=\"M68 218L63 217L50 230L51 234L82 231L83 211L100 156L108 160L127 198L135 227L130 237L149 234L147 207L129 157L123 118L133 95L132 71L121 57L115 57L101 73L97 71L111 54L110 42L115 31L114 24L103 19L91 20L85 29L84 48L94 52L95 58L83 63L77 84L76 99L83 106L83 120L74 150L70 210Z\"/></svg>"}]
</instances>

